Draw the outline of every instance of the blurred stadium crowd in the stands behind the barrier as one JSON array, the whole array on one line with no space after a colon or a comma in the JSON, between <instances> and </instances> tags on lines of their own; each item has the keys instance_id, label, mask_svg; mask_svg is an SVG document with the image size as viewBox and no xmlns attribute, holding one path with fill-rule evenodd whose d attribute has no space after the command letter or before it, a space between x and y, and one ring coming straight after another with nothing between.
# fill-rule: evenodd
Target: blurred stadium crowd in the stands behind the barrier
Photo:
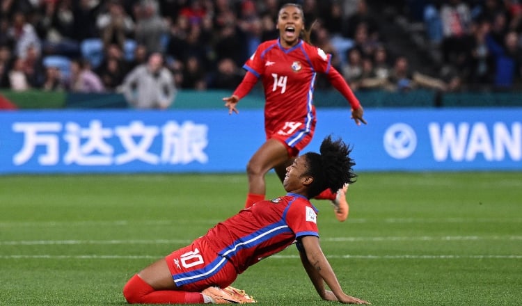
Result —
<instances>
[{"instance_id":1,"label":"blurred stadium crowd in the stands behind the barrier","mask_svg":"<svg viewBox=\"0 0 522 306\"><path fill-rule=\"evenodd\" d=\"M115 91L159 52L177 88L232 90L286 2L354 90L522 88L516 0L1 0L0 88Z\"/></svg>"}]
</instances>

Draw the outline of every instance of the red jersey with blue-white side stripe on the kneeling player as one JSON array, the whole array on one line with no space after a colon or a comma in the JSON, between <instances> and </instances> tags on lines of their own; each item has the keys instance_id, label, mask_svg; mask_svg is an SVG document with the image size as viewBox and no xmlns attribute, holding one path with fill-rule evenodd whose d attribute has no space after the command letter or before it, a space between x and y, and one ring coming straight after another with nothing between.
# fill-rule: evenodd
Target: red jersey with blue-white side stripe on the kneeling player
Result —
<instances>
[{"instance_id":1,"label":"red jersey with blue-white side stripe on the kneeling player","mask_svg":"<svg viewBox=\"0 0 522 306\"><path fill-rule=\"evenodd\" d=\"M242 273L300 236L319 236L317 209L302 195L288 193L239 211L212 227L203 239Z\"/></svg>"}]
</instances>

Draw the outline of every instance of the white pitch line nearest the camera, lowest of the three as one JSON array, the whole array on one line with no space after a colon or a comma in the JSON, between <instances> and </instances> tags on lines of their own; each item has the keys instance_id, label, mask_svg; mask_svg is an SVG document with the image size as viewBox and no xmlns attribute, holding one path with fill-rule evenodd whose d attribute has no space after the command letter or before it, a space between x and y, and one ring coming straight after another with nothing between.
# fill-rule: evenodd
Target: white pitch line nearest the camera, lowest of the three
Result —
<instances>
[{"instance_id":1,"label":"white pitch line nearest the camera, lowest of the three","mask_svg":"<svg viewBox=\"0 0 522 306\"><path fill-rule=\"evenodd\" d=\"M0 255L0 259L159 259L164 255ZM522 255L329 255L329 259L522 259ZM273 259L298 259L274 255Z\"/></svg>"}]
</instances>

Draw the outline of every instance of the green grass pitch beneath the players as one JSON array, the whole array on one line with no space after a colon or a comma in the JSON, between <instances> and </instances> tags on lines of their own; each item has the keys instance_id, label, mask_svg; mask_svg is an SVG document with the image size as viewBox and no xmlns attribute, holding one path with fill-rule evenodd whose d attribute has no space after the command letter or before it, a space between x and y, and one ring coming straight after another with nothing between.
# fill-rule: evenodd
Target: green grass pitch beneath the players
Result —
<instances>
[{"instance_id":1,"label":"green grass pitch beneath the players","mask_svg":"<svg viewBox=\"0 0 522 306\"><path fill-rule=\"evenodd\" d=\"M269 198L283 194L273 173ZM235 214L246 175L0 176L0 305L126 305L127 279ZM359 174L319 209L345 292L372 305L521 305L522 173ZM292 246L239 275L258 305L319 299Z\"/></svg>"}]
</instances>

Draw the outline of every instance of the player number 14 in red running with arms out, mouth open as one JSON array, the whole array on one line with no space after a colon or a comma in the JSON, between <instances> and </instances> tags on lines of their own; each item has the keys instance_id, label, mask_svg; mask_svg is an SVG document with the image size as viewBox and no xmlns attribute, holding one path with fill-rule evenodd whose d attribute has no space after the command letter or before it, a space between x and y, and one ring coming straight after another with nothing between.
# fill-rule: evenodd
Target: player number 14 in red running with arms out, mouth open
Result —
<instances>
[{"instance_id":1,"label":"player number 14 in red running with arms out, mouth open","mask_svg":"<svg viewBox=\"0 0 522 306\"><path fill-rule=\"evenodd\" d=\"M262 81L267 140L246 166L248 194L245 207L264 200L264 175L274 169L282 182L285 168L312 140L316 122L313 92L317 73L324 74L347 99L351 118L356 124L366 124L363 106L345 79L331 66L331 55L310 45L310 31L305 30L303 8L294 3L283 5L278 14L277 29L279 39L259 45L243 66L247 72L242 83L232 96L223 98L228 113L238 113L239 99L246 96L258 80ZM349 213L345 198L347 188L348 185L335 191L325 189L316 196L316 199L331 200L335 217L341 222L348 218Z\"/></svg>"}]
</instances>

